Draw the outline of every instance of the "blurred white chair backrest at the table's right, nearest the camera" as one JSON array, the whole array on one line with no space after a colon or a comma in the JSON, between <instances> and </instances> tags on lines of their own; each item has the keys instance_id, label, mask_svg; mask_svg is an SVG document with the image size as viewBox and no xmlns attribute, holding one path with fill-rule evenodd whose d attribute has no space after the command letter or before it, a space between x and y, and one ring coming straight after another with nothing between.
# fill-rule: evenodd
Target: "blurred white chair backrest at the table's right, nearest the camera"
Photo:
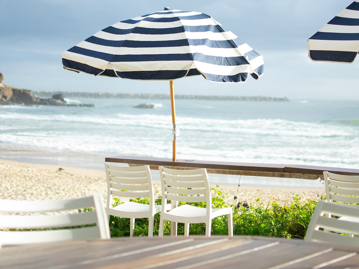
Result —
<instances>
[{"instance_id":1,"label":"blurred white chair backrest at the table's right, nearest the camera","mask_svg":"<svg viewBox=\"0 0 359 269\"><path fill-rule=\"evenodd\" d=\"M328 218L328 214L335 217ZM314 209L305 240L359 246L359 237L348 236L359 234L359 222L339 220L338 217L342 216L359 218L359 208L319 201Z\"/></svg>"}]
</instances>

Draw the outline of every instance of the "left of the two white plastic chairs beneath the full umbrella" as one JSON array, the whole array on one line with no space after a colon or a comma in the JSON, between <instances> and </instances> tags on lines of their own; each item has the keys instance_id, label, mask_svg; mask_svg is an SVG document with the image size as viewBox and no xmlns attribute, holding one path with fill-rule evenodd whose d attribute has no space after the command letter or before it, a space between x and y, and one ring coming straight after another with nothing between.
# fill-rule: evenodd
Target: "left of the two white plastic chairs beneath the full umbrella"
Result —
<instances>
[{"instance_id":1,"label":"left of the two white plastic chairs beneath the full umbrella","mask_svg":"<svg viewBox=\"0 0 359 269\"><path fill-rule=\"evenodd\" d=\"M135 218L148 218L148 236L153 236L154 215L161 211L161 205L155 204L154 190L148 165L121 167L105 163L107 176L106 214L121 218L130 218L130 236L133 236ZM149 204L124 202L113 207L113 198L149 198ZM121 202L121 200L120 200Z\"/></svg>"}]
</instances>

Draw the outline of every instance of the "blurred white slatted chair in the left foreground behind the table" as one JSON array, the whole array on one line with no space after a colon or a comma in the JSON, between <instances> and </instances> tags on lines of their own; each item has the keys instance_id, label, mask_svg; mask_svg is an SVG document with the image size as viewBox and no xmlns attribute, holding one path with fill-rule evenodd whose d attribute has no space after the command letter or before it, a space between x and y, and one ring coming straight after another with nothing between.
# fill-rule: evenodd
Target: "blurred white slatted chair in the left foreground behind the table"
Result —
<instances>
[{"instance_id":1,"label":"blurred white slatted chair in the left foreground behind the table","mask_svg":"<svg viewBox=\"0 0 359 269\"><path fill-rule=\"evenodd\" d=\"M69 213L70 210L93 208L94 211ZM66 213L60 211L67 211ZM0 247L29 243L109 239L110 233L101 195L59 200L0 199ZM9 213L37 213L12 215ZM39 214L41 213L41 214ZM95 224L96 226L73 227ZM60 229L56 229L61 227ZM64 227L67 227L64 229ZM28 229L47 230L28 230ZM55 228L55 229L54 229ZM16 229L25 229L16 231Z\"/></svg>"}]
</instances>

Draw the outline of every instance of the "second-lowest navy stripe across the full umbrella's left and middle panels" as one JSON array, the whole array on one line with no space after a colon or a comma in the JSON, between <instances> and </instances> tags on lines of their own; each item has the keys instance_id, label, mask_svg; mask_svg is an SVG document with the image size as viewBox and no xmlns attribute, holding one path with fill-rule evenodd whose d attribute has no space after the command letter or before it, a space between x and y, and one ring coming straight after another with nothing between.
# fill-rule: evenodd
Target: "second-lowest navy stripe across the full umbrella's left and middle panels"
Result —
<instances>
[{"instance_id":1,"label":"second-lowest navy stripe across the full umbrella's left and middle panels","mask_svg":"<svg viewBox=\"0 0 359 269\"><path fill-rule=\"evenodd\" d=\"M193 61L191 53L178 54L144 54L144 55L113 55L110 53L92 51L90 49L72 47L69 52L98 58L108 62L147 62L147 61Z\"/></svg>"}]
</instances>

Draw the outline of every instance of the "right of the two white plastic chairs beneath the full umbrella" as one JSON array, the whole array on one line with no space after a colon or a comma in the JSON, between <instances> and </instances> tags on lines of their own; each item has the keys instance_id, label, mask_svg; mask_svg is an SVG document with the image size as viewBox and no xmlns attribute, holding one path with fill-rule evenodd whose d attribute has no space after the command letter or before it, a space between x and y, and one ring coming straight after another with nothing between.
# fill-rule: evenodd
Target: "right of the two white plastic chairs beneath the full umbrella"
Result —
<instances>
[{"instance_id":1,"label":"right of the two white plastic chairs beneath the full umbrella","mask_svg":"<svg viewBox=\"0 0 359 269\"><path fill-rule=\"evenodd\" d=\"M164 221L185 223L185 236L189 223L205 223L206 236L211 235L212 219L227 215L228 235L233 236L232 208L212 208L212 198L206 169L174 170L159 166L162 185L162 211L158 236L163 236ZM186 196L187 195L187 196ZM206 208L183 204L167 212L167 200L177 202L206 202Z\"/></svg>"}]
</instances>

